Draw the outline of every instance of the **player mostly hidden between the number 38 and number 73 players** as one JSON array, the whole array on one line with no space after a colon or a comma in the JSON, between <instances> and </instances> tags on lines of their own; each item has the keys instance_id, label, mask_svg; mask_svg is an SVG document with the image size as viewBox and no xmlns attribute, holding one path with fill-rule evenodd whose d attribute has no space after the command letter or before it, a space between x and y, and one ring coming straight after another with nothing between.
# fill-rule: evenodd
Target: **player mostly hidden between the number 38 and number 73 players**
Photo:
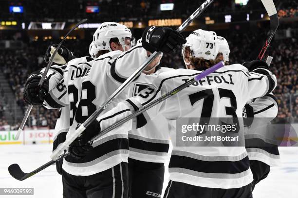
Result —
<instances>
[{"instance_id":1,"label":"player mostly hidden between the number 38 and number 73 players","mask_svg":"<svg viewBox=\"0 0 298 198\"><path fill-rule=\"evenodd\" d=\"M138 41L138 45L141 40ZM129 97L138 95L148 88L155 76L171 70L159 67L162 55L155 59L131 84ZM129 198L152 198L162 194L165 162L168 160L169 132L167 120L158 115L141 128L133 129L129 134Z\"/></svg>"}]
</instances>

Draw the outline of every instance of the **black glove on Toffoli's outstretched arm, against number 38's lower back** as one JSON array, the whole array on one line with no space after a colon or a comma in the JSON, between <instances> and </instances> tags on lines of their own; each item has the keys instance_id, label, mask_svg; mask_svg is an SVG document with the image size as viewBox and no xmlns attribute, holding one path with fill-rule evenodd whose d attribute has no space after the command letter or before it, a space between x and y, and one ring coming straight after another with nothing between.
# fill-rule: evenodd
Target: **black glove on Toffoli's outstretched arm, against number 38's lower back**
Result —
<instances>
[{"instance_id":1,"label":"black glove on Toffoli's outstretched arm, against number 38's lower back","mask_svg":"<svg viewBox=\"0 0 298 198\"><path fill-rule=\"evenodd\" d=\"M93 150L93 146L89 141L99 132L100 125L99 122L95 120L69 145L68 151L71 152L71 155L75 157L75 159L84 159L84 157Z\"/></svg>"}]
</instances>

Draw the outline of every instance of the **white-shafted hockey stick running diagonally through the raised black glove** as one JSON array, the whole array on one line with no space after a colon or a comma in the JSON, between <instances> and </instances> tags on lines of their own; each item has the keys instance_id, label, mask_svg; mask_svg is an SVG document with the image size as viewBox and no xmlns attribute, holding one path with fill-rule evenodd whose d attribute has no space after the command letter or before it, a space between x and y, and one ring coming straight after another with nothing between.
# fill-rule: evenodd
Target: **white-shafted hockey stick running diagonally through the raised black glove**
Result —
<instances>
[{"instance_id":1,"label":"white-shafted hockey stick running diagonally through the raised black glove","mask_svg":"<svg viewBox=\"0 0 298 198\"><path fill-rule=\"evenodd\" d=\"M205 2L194 12L189 16L186 21L177 28L177 32L182 33L182 31L185 30L185 28L197 17L199 16L205 8L210 5L213 2L213 0L205 0ZM141 73L142 71L157 57L161 54L161 52L154 52L147 61L145 61L133 74L130 75L130 77L121 84L116 91L104 102L104 105L102 105L100 108L96 109L96 111L88 117L88 119L83 122L76 130L75 132L72 132L71 136L67 138L65 142L60 144L55 151L52 153L51 158L56 159L56 157L64 152L65 149L68 148L68 146L75 140L75 138L82 133L86 127L94 121L96 117L98 117L111 103L112 101L126 88L130 85L131 82L133 82Z\"/></svg>"}]
</instances>

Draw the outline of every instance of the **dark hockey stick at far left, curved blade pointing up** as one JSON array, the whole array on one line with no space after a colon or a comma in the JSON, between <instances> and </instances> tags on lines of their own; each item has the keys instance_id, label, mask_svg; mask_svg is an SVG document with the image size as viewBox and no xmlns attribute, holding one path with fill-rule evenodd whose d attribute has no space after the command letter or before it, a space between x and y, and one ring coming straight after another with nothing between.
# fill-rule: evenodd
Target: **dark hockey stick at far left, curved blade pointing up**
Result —
<instances>
[{"instance_id":1,"label":"dark hockey stick at far left, curved blade pointing up","mask_svg":"<svg viewBox=\"0 0 298 198\"><path fill-rule=\"evenodd\" d=\"M44 82L44 80L45 80L45 77L47 76L47 73L48 73L48 71L49 71L49 69L50 69L50 66L51 66L52 63L53 63L54 57L55 57L55 55L56 55L58 49L59 49L60 46L62 45L62 43L65 41L66 37L67 37L71 32L73 32L73 31L75 30L75 28L77 28L77 26L81 25L82 23L84 23L84 22L86 22L86 21L87 21L87 18L85 18L85 19L79 21L77 24L75 24L75 26L74 26L74 27L73 27L73 28L72 28L72 29L71 29L71 30L64 36L64 38L61 40L61 42L60 42L59 45L57 46L56 50L54 51L53 55L51 56L51 58L50 58L50 60L49 60L49 63L48 63L48 65L46 66L46 68L45 68L45 70L44 70L44 72L43 72L43 74L42 74L42 77L41 77L40 81L38 82L37 90L40 90L40 87L42 86L42 84L43 84L43 82ZM28 107L28 109L26 110L25 116L24 116L24 118L23 118L23 120L22 120L22 122L21 122L21 124L20 124L20 126L19 126L19 130L18 130L18 133L17 133L17 135L16 135L16 140L19 139L19 135L20 135L20 133L22 132L24 126L25 126L25 123L26 123L26 121L27 121L27 119L28 119L28 117L29 117L29 115L30 115L30 112L31 112L31 110L32 110L32 107L33 107L33 105L30 104L29 107Z\"/></svg>"}]
</instances>

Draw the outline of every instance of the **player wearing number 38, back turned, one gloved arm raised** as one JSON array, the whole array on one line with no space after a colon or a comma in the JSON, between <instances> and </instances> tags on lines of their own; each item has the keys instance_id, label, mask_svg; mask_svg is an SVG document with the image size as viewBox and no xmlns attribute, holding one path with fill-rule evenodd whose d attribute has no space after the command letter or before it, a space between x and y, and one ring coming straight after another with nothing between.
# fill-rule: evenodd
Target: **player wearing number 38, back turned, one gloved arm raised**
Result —
<instances>
[{"instance_id":1,"label":"player wearing number 38, back turned, one gloved arm raised","mask_svg":"<svg viewBox=\"0 0 298 198\"><path fill-rule=\"evenodd\" d=\"M130 39L126 39L125 35L131 36L131 33L122 27L117 23L103 23L93 35L94 45L97 50L100 49L96 54L98 58L84 63L80 62L81 58L68 62L64 72L71 118L68 135L149 56L150 53L142 46L130 49ZM119 28L124 32L119 34ZM169 28L156 27L152 33L156 36L155 50L168 52L184 42L180 34ZM126 52L121 53L124 50ZM127 197L127 133L114 131L92 146L80 147L93 135L82 133L70 146L73 156L63 162L64 195ZM87 189L86 182L89 183Z\"/></svg>"}]
</instances>

